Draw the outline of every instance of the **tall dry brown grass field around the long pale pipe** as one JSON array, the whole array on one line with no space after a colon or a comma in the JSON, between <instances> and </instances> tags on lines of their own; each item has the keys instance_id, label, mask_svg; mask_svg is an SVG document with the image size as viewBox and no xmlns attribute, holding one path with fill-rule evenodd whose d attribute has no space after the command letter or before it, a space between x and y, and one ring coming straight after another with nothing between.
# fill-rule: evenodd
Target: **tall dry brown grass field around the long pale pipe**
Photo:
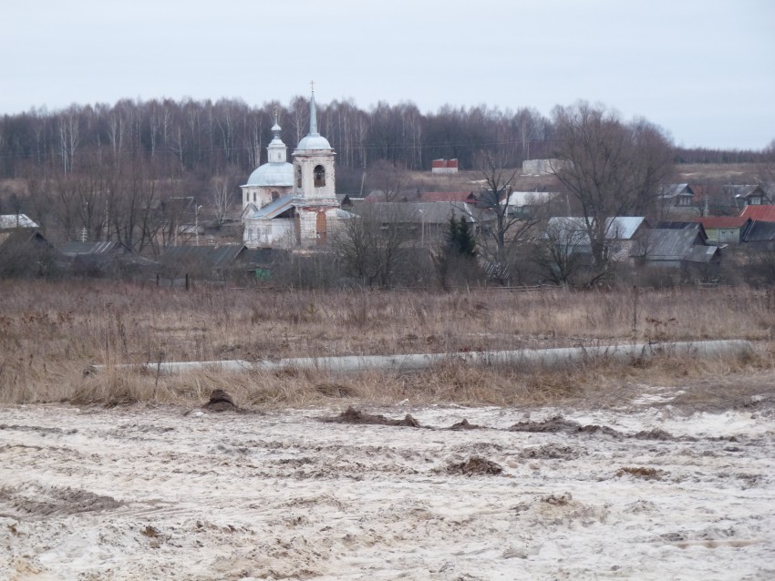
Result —
<instances>
[{"instance_id":1,"label":"tall dry brown grass field around the long pale pipe","mask_svg":"<svg viewBox=\"0 0 775 581\"><path fill-rule=\"evenodd\" d=\"M628 374L467 369L412 376L329 378L155 372L85 375L93 364L211 361L342 354L460 352L622 341L743 338L770 352L775 304L765 292L612 290L574 292L171 290L116 282L0 281L0 402L201 401L215 388L257 406L355 398L375 402L540 403L573 398ZM674 362L680 373L739 372ZM769 364L759 358L748 365ZM694 365L694 366L693 366ZM702 365L708 365L703 363ZM730 371L731 370L731 371ZM676 374L678 372L672 372Z\"/></svg>"}]
</instances>

